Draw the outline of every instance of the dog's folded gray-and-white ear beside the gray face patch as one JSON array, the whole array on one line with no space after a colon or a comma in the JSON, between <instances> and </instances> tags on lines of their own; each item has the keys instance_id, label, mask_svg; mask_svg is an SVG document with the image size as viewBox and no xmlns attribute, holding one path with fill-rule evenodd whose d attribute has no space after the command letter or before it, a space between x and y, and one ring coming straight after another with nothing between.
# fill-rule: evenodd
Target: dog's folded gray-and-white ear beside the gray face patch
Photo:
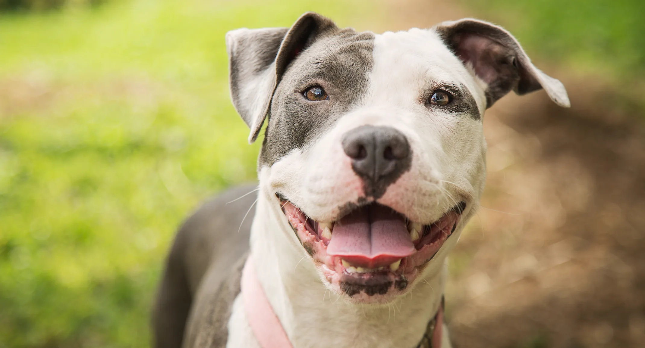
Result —
<instances>
[{"instance_id":1,"label":"dog's folded gray-and-white ear beside the gray face patch","mask_svg":"<svg viewBox=\"0 0 645 348\"><path fill-rule=\"evenodd\" d=\"M260 133L285 68L318 35L334 28L330 19L308 12L291 28L243 28L226 33L231 99L251 128L249 142Z\"/></svg>"}]
</instances>

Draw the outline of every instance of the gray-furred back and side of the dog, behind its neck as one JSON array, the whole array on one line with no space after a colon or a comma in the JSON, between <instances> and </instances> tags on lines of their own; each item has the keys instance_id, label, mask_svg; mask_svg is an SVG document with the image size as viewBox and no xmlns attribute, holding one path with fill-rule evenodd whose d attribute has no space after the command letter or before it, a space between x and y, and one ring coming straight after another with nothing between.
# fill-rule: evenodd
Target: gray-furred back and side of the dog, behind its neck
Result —
<instances>
[{"instance_id":1,"label":"gray-furred back and side of the dog, behind its neck","mask_svg":"<svg viewBox=\"0 0 645 348\"><path fill-rule=\"evenodd\" d=\"M183 347L197 347L204 342L204 334L219 334L223 337L213 337L212 342L226 343L228 333L222 329L226 329L230 304L219 299L230 298L236 290L221 284L248 250L255 210L250 207L257 195L235 199L255 187L241 186L221 193L199 208L177 232L154 305L154 347L177 348L182 342ZM219 322L211 317L215 312L221 314ZM211 330L202 333L205 327Z\"/></svg>"}]
</instances>

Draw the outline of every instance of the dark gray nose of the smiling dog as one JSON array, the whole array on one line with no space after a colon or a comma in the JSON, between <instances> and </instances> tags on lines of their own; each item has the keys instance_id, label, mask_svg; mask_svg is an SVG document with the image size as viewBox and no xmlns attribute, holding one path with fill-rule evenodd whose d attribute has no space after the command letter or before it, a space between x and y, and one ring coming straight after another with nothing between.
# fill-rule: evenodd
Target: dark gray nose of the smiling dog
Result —
<instances>
[{"instance_id":1,"label":"dark gray nose of the smiling dog","mask_svg":"<svg viewBox=\"0 0 645 348\"><path fill-rule=\"evenodd\" d=\"M363 179L365 195L379 198L402 173L410 169L408 139L392 127L360 126L342 138L342 149Z\"/></svg>"}]
</instances>

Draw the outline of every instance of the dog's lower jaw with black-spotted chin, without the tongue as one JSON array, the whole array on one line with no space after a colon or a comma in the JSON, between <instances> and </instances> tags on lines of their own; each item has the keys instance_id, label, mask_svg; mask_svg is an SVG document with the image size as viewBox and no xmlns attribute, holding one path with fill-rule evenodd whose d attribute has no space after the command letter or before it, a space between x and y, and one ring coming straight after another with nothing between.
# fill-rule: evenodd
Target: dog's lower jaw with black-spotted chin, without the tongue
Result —
<instances>
[{"instance_id":1,"label":"dog's lower jaw with black-spotted chin, without the tongue","mask_svg":"<svg viewBox=\"0 0 645 348\"><path fill-rule=\"evenodd\" d=\"M352 256L351 250L344 250L339 254L332 248L328 249L332 238L346 238L334 237L341 232L335 233L333 222L313 221L284 197L280 204L293 232L312 258L323 284L333 292L342 294L346 300L357 304L387 304L398 296L408 293L420 271L422 272L428 262L439 252L455 229L458 226L461 229L461 215L466 207L465 202L462 202L446 212L439 220L425 226L408 221L407 226L399 227L403 229L400 233L404 235L401 237L407 238L407 242L406 240L399 242L404 245L403 253L384 255L388 247L392 248L390 245L386 249L381 249L377 258L368 259L363 256ZM356 210L377 209L388 215L388 218L399 216L401 220L404 219L401 214L395 213L390 208L379 204L376 207L374 205L366 204ZM346 217L342 220L345 219ZM396 224L397 220L397 218L390 220L390 226L392 222ZM388 231L388 235L391 236L392 231ZM337 242L337 240L334 241ZM356 240L350 238L350 242L355 243ZM412 251L406 248L408 245Z\"/></svg>"}]
</instances>

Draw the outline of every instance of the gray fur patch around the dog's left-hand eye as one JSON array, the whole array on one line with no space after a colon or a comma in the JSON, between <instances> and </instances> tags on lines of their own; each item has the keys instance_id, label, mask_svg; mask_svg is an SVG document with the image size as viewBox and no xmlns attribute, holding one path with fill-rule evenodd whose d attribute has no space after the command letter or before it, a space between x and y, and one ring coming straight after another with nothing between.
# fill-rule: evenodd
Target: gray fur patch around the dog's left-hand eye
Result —
<instances>
[{"instance_id":1,"label":"gray fur patch around the dog's left-hand eye","mask_svg":"<svg viewBox=\"0 0 645 348\"><path fill-rule=\"evenodd\" d=\"M361 101L373 66L373 40L371 32L330 30L287 66L273 95L260 166L272 166L293 149L312 143ZM303 96L317 85L328 100L309 101Z\"/></svg>"}]
</instances>

